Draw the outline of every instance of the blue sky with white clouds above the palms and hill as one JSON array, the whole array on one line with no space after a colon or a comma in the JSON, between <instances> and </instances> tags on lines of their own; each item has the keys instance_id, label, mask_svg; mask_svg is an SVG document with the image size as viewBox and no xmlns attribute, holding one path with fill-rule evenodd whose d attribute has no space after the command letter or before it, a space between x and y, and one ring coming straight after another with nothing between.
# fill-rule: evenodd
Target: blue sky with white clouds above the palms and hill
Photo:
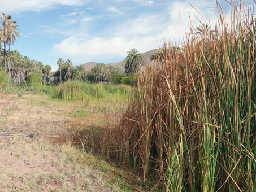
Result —
<instances>
[{"instance_id":1,"label":"blue sky with white clouds above the palms and hill","mask_svg":"<svg viewBox=\"0 0 256 192\"><path fill-rule=\"evenodd\" d=\"M52 71L58 58L74 66L120 62L133 48L143 53L165 41L183 41L190 23L197 26L202 17L214 23L217 8L215 0L0 0L0 5L20 29L11 49Z\"/></svg>"}]
</instances>

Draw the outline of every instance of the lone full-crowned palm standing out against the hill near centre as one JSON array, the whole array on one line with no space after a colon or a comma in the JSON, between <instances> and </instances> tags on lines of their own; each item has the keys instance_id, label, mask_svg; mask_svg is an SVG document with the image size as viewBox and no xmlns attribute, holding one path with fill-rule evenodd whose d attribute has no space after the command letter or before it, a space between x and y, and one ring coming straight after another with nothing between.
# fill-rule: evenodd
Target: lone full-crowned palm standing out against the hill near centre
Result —
<instances>
[{"instance_id":1,"label":"lone full-crowned palm standing out against the hill near centre","mask_svg":"<svg viewBox=\"0 0 256 192\"><path fill-rule=\"evenodd\" d=\"M128 56L125 58L125 71L124 73L128 75L129 73L136 73L140 64L143 63L143 58L137 49L131 49L127 52Z\"/></svg>"}]
</instances>

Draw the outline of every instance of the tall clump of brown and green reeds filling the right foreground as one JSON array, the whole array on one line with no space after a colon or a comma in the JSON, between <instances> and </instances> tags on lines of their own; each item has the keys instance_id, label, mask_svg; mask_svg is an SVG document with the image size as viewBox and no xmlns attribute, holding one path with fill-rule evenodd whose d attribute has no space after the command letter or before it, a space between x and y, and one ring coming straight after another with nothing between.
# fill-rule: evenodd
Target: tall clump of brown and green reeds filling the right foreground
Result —
<instances>
[{"instance_id":1,"label":"tall clump of brown and green reeds filling the right foreground","mask_svg":"<svg viewBox=\"0 0 256 192\"><path fill-rule=\"evenodd\" d=\"M163 48L111 132L109 151L165 191L256 191L256 26L231 4L231 23L218 7L214 29Z\"/></svg>"}]
</instances>

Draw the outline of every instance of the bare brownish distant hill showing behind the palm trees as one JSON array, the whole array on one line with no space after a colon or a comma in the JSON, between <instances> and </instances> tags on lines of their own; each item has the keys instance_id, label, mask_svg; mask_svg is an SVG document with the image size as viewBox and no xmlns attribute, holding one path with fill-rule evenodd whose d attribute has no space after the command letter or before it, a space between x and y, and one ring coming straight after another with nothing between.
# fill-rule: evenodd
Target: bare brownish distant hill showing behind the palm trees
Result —
<instances>
[{"instance_id":1,"label":"bare brownish distant hill showing behind the palm trees","mask_svg":"<svg viewBox=\"0 0 256 192\"><path fill-rule=\"evenodd\" d=\"M151 65L154 62L151 62L150 60L150 56L155 53L155 51L157 51L158 49L153 49L144 53L141 53L141 55L143 56L144 60L146 61L147 64ZM83 64L84 68L86 71L89 71L90 69L93 68L93 66L95 66L97 64L97 62L89 62L89 63L85 63ZM124 71L124 66L125 66L125 58L124 60L122 60L122 62L114 62L114 63L107 63L107 66L112 65L115 67L120 67L122 69L122 71Z\"/></svg>"}]
</instances>

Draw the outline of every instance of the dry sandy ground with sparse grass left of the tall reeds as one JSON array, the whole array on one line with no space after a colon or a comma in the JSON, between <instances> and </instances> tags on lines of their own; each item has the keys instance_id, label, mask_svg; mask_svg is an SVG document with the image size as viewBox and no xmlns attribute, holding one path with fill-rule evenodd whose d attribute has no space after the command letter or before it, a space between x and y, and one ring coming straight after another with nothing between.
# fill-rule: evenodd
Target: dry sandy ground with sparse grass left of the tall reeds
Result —
<instances>
[{"instance_id":1,"label":"dry sandy ground with sparse grass left of the tall reeds","mask_svg":"<svg viewBox=\"0 0 256 192\"><path fill-rule=\"evenodd\" d=\"M0 191L134 191L127 172L82 154L71 142L53 142L77 131L62 115L73 109L35 95L0 98L0 134L33 134L1 135Z\"/></svg>"}]
</instances>

